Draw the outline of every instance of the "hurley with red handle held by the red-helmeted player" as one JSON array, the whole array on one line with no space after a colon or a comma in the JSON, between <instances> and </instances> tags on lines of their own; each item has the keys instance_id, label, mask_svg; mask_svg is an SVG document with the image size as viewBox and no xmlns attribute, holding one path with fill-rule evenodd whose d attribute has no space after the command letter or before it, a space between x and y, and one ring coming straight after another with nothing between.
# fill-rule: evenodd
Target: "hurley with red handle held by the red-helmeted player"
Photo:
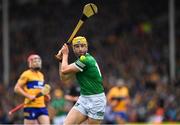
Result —
<instances>
[{"instance_id":1,"label":"hurley with red handle held by the red-helmeted player","mask_svg":"<svg viewBox=\"0 0 180 125\"><path fill-rule=\"evenodd\" d=\"M51 87L50 87L48 84L45 84L45 86L44 86L44 88L42 89L42 91L36 95L36 98L38 98L38 97L40 97L40 96L44 96L44 95L49 94L50 90L51 90ZM14 113L14 112L22 109L25 104L31 103L32 101L33 101L33 100L29 100L29 101L27 101L26 103L21 103L21 104L17 105L15 108L13 108L13 109L11 109L11 110L9 111L9 115L12 115L12 113Z\"/></svg>"}]
</instances>

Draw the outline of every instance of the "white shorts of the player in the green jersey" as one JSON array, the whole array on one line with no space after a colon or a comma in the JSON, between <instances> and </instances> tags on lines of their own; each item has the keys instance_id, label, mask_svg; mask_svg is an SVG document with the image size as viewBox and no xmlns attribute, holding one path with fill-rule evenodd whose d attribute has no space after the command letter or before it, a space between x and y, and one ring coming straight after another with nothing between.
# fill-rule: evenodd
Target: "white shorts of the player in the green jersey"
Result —
<instances>
[{"instance_id":1,"label":"white shorts of the player in the green jersey","mask_svg":"<svg viewBox=\"0 0 180 125\"><path fill-rule=\"evenodd\" d=\"M106 109L106 96L104 93L96 95L81 95L73 108L82 114L102 120Z\"/></svg>"}]
</instances>

